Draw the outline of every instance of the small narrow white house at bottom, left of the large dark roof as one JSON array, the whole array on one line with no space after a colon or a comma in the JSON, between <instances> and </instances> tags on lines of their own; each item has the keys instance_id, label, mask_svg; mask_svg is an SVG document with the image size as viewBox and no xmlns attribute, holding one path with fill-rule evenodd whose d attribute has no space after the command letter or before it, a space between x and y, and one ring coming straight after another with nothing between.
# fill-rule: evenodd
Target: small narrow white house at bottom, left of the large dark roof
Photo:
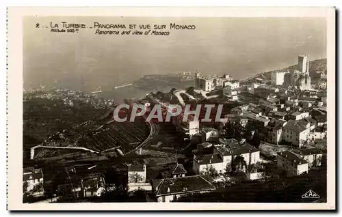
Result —
<instances>
[{"instance_id":1,"label":"small narrow white house at bottom, left of the large dark roof","mask_svg":"<svg viewBox=\"0 0 342 217\"><path fill-rule=\"evenodd\" d=\"M152 190L152 186L146 183L146 164L130 164L128 167L129 191Z\"/></svg>"}]
</instances>

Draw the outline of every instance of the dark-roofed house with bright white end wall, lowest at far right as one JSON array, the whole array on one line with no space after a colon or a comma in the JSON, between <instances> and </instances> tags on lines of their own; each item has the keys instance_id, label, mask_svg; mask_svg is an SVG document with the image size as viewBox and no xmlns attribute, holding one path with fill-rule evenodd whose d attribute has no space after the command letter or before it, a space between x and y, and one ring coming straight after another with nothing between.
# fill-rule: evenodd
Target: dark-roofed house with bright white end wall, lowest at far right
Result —
<instances>
[{"instance_id":1,"label":"dark-roofed house with bright white end wall, lowest at far right","mask_svg":"<svg viewBox=\"0 0 342 217\"><path fill-rule=\"evenodd\" d=\"M285 169L288 176L308 172L308 162L291 151L278 152L277 165Z\"/></svg>"}]
</instances>

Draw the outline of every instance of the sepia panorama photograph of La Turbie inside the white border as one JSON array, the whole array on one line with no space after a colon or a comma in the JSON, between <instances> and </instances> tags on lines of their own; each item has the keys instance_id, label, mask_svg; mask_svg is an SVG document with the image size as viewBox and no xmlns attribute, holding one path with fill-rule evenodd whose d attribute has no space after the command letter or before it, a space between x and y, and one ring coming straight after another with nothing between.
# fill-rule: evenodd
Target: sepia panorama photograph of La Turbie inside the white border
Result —
<instances>
[{"instance_id":1,"label":"sepia panorama photograph of La Turbie inside the white border","mask_svg":"<svg viewBox=\"0 0 342 217\"><path fill-rule=\"evenodd\" d=\"M328 203L327 14L23 16L20 202Z\"/></svg>"}]
</instances>

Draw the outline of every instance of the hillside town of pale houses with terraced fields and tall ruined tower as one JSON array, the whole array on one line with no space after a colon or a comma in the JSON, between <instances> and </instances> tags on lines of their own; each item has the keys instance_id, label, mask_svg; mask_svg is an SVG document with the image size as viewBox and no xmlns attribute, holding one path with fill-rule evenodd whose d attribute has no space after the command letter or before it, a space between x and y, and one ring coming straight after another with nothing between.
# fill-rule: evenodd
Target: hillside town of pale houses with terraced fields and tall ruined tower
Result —
<instances>
[{"instance_id":1,"label":"hillside town of pale houses with terraced fields and tall ruined tower","mask_svg":"<svg viewBox=\"0 0 342 217\"><path fill-rule=\"evenodd\" d=\"M311 71L310 64L307 55L300 55L295 68L245 81L228 73L178 72L186 81L194 79L192 87L147 93L127 102L147 109L155 104L223 104L221 122L183 119L181 114L169 123L144 121L146 117L113 123L106 113L102 126L74 136L73 144L57 147L49 139L44 147L35 144L37 154L23 170L24 202L295 202L308 190L324 200L327 72ZM98 99L96 93L40 91L44 93L27 93L24 104L38 97L62 100L70 107L76 101L91 103L101 111L118 105ZM64 137L60 132L58 138ZM242 190L246 186L259 192ZM287 190L298 198L278 195ZM257 198L271 191L273 196ZM307 200L313 201L317 199Z\"/></svg>"}]
</instances>

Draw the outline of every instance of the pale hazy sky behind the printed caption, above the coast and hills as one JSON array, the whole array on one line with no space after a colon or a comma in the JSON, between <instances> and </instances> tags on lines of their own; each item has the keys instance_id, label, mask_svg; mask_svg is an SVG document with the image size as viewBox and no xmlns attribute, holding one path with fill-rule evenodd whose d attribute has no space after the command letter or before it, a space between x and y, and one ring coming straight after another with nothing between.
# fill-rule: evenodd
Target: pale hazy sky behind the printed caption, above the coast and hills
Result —
<instances>
[{"instance_id":1,"label":"pale hazy sky behind the printed caption, above the coast and hills","mask_svg":"<svg viewBox=\"0 0 342 217\"><path fill-rule=\"evenodd\" d=\"M166 25L170 35L51 33L50 22ZM196 25L170 30L170 23ZM62 28L60 28L62 29ZM103 30L103 29L102 29ZM92 91L131 83L146 74L178 71L244 79L292 66L298 55L326 58L325 18L26 17L24 88L40 85Z\"/></svg>"}]
</instances>

